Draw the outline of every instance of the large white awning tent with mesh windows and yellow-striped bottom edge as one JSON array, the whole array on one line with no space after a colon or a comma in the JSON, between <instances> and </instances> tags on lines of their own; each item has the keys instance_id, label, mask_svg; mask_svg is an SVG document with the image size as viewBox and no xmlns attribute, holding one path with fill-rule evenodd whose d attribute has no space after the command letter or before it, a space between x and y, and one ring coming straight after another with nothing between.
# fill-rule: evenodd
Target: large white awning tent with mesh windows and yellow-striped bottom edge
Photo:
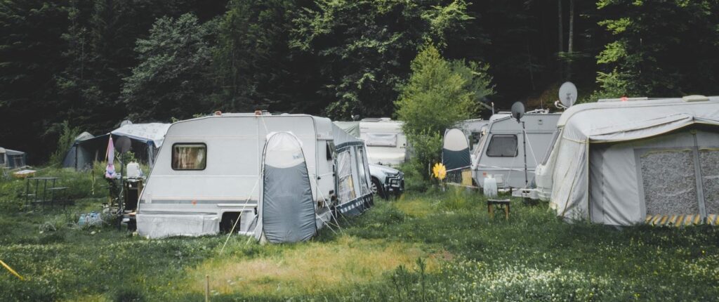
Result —
<instances>
[{"instance_id":1,"label":"large white awning tent with mesh windows and yellow-striped bottom edge","mask_svg":"<svg viewBox=\"0 0 719 302\"><path fill-rule=\"evenodd\" d=\"M610 225L719 214L719 97L572 106L537 186L559 216Z\"/></svg>"}]
</instances>

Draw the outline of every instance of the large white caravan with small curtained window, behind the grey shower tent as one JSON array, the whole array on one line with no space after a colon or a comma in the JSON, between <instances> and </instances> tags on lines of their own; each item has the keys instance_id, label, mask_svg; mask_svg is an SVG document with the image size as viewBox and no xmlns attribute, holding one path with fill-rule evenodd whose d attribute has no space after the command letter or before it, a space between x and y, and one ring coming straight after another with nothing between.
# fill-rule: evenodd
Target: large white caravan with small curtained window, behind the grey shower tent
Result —
<instances>
[{"instance_id":1,"label":"large white caravan with small curtained window, behind the grey shower tent","mask_svg":"<svg viewBox=\"0 0 719 302\"><path fill-rule=\"evenodd\" d=\"M334 128L326 118L260 112L172 124L139 198L137 231L152 238L198 236L237 226L240 234L257 237L262 232L258 207L268 181L263 166L272 163L263 160L265 143L275 132L289 132L301 145L317 229L331 219L333 208L361 212L372 203L364 145L349 134L337 137L341 132ZM337 148L336 141L343 145Z\"/></svg>"}]
</instances>

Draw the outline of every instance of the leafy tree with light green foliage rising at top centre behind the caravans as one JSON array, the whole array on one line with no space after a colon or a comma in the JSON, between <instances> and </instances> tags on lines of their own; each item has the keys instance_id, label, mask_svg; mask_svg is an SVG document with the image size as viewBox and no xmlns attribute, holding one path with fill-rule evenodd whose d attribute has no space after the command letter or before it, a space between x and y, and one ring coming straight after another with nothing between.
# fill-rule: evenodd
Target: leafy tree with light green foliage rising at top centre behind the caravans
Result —
<instances>
[{"instance_id":1,"label":"leafy tree with light green foliage rising at top centre behind the caravans","mask_svg":"<svg viewBox=\"0 0 719 302\"><path fill-rule=\"evenodd\" d=\"M318 58L325 113L336 119L392 114L418 47L445 45L470 19L463 0L441 2L319 0L295 19L292 46Z\"/></svg>"}]
</instances>

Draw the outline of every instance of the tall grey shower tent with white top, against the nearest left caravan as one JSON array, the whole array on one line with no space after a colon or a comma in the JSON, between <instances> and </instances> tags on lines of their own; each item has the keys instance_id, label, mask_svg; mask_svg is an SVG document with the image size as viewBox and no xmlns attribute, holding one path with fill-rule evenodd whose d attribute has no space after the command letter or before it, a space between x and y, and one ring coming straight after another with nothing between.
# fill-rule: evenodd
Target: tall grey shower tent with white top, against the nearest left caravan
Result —
<instances>
[{"instance_id":1,"label":"tall grey shower tent with white top, against the nearest left caravan","mask_svg":"<svg viewBox=\"0 0 719 302\"><path fill-rule=\"evenodd\" d=\"M302 143L291 132L267 134L262 152L262 195L256 237L301 242L317 232L312 186Z\"/></svg>"}]
</instances>

